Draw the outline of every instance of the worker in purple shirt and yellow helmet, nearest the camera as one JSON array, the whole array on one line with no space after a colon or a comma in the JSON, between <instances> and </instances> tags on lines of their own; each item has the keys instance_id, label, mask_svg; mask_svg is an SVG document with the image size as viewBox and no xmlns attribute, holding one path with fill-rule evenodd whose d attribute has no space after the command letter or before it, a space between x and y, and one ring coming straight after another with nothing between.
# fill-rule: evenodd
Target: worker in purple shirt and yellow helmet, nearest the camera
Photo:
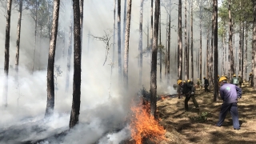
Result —
<instances>
[{"instance_id":1,"label":"worker in purple shirt and yellow helmet, nearest the camera","mask_svg":"<svg viewBox=\"0 0 256 144\"><path fill-rule=\"evenodd\" d=\"M220 90L219 93L223 100L221 111L219 114L218 122L215 126L222 126L226 118L226 114L229 111L232 120L234 130L240 130L239 120L238 120L238 98L242 98L242 89L233 84L227 83L225 77L219 78Z\"/></svg>"}]
</instances>

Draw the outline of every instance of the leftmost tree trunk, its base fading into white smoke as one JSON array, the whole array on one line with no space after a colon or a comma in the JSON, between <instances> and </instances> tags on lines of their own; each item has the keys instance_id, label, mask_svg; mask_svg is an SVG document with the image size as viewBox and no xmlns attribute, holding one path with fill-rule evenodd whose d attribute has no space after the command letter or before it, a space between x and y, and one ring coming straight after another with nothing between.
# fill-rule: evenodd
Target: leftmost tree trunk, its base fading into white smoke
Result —
<instances>
[{"instance_id":1,"label":"leftmost tree trunk, its base fading into white smoke","mask_svg":"<svg viewBox=\"0 0 256 144\"><path fill-rule=\"evenodd\" d=\"M6 14L6 41L5 41L5 63L4 63L4 90L3 90L3 106L7 107L8 97L8 74L9 74L9 57L10 57L10 14L12 0L8 0Z\"/></svg>"}]
</instances>

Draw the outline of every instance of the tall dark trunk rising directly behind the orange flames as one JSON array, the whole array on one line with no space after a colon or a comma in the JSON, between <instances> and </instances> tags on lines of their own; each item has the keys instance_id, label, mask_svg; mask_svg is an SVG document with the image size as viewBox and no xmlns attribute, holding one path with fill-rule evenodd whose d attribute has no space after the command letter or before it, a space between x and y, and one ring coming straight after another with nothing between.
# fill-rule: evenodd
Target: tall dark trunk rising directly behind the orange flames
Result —
<instances>
[{"instance_id":1,"label":"tall dark trunk rising directly behind the orange flames","mask_svg":"<svg viewBox=\"0 0 256 144\"><path fill-rule=\"evenodd\" d=\"M150 73L150 115L156 118L157 110L157 61L158 61L158 26L159 26L160 0L155 0L154 10L154 43L152 49Z\"/></svg>"}]
</instances>

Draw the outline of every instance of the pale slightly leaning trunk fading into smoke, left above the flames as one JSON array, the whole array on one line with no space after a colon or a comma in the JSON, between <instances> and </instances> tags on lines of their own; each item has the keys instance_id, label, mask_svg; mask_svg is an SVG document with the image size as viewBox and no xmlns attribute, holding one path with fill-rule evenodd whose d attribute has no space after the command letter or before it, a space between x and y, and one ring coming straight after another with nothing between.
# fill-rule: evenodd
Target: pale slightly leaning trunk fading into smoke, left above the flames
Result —
<instances>
[{"instance_id":1,"label":"pale slightly leaning trunk fading into smoke, left above the flames","mask_svg":"<svg viewBox=\"0 0 256 144\"><path fill-rule=\"evenodd\" d=\"M123 77L124 86L128 89L128 62L129 62L129 39L130 39L130 16L131 16L131 0L128 0L127 15L126 15L126 47L124 51L124 66L123 66Z\"/></svg>"}]
</instances>

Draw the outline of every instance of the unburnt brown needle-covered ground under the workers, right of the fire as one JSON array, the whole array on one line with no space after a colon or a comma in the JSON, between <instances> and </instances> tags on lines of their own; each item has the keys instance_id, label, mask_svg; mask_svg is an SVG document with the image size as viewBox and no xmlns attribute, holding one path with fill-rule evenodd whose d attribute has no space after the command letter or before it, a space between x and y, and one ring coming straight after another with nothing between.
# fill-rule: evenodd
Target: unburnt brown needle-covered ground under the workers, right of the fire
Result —
<instances>
[{"instance_id":1,"label":"unburnt brown needle-covered ground under the workers, right of the fire","mask_svg":"<svg viewBox=\"0 0 256 144\"><path fill-rule=\"evenodd\" d=\"M213 102L213 90L209 93L196 90L199 110L189 101L189 111L184 110L184 100L166 98L158 101L160 124L166 130L166 142L161 143L256 143L256 90L248 83L242 86L242 98L238 99L238 114L241 130L234 130L232 118L227 114L221 127L214 126L218 122L221 98Z\"/></svg>"}]
</instances>

